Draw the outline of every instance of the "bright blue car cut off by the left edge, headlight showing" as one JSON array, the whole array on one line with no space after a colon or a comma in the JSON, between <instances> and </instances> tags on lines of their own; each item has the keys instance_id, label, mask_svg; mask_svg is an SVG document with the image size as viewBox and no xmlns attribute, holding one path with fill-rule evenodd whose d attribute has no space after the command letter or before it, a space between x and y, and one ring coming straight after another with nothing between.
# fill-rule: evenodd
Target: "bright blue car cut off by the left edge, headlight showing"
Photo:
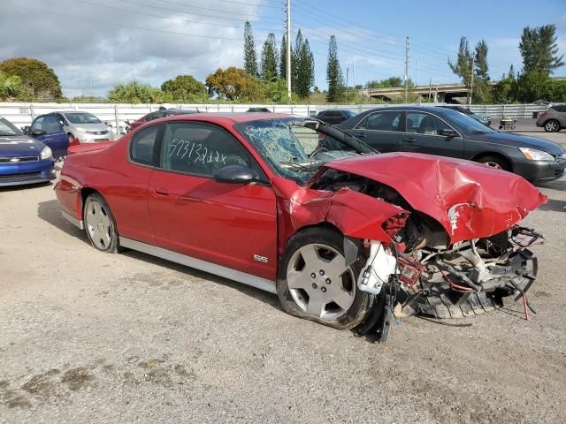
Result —
<instances>
[{"instance_id":1,"label":"bright blue car cut off by the left edge, headlight showing","mask_svg":"<svg viewBox=\"0 0 566 424\"><path fill-rule=\"evenodd\" d=\"M54 178L51 148L0 117L0 186L42 183Z\"/></svg>"}]
</instances>

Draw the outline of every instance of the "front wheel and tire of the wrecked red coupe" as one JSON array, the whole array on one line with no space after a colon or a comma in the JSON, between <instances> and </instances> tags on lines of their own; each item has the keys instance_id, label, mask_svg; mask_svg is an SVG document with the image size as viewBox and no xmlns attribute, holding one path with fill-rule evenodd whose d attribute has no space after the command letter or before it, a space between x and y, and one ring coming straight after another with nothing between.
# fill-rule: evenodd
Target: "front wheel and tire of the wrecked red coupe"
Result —
<instances>
[{"instance_id":1,"label":"front wheel and tire of the wrecked red coupe","mask_svg":"<svg viewBox=\"0 0 566 424\"><path fill-rule=\"evenodd\" d=\"M298 232L280 263L277 295L287 314L334 329L353 329L363 322L371 301L356 286L364 261L346 265L338 231L312 227Z\"/></svg>"}]
</instances>

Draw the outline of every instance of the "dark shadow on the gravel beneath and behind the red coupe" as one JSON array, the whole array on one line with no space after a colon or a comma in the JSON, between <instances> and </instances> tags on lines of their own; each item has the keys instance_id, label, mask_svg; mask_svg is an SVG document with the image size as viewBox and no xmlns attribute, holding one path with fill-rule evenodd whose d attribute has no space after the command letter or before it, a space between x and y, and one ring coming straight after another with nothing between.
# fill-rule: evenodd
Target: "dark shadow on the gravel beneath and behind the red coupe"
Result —
<instances>
[{"instance_id":1,"label":"dark shadow on the gravel beneath and behind the red coupe","mask_svg":"<svg viewBox=\"0 0 566 424\"><path fill-rule=\"evenodd\" d=\"M53 201L40 202L37 208L37 216L40 217L46 223L49 223L50 225L57 227L57 229L65 232L69 236L80 239L82 242L84 242L85 248L94 249L94 247L90 246L90 242L88 241L85 232L80 231L77 227L75 227L72 223L69 223L61 215L61 209L59 208L59 204L57 201L53 200ZM281 308L279 307L279 301L275 294L264 292L262 290L256 289L254 287L250 287L245 284L236 283L233 280L223 278L221 276L215 276L213 274L209 274L208 272L185 267L183 265L179 265L171 261L165 261L163 259L157 258L155 256L151 256L149 254L142 254L141 252L136 252L134 250L125 250L121 254L128 256L130 258L134 258L135 260L153 263L158 267L172 269L191 277L209 280L211 283L214 284L225 285L227 287L233 288L234 290L247 294L248 296L254 299L261 300L264 303L269 304L276 309L281 310Z\"/></svg>"}]
</instances>

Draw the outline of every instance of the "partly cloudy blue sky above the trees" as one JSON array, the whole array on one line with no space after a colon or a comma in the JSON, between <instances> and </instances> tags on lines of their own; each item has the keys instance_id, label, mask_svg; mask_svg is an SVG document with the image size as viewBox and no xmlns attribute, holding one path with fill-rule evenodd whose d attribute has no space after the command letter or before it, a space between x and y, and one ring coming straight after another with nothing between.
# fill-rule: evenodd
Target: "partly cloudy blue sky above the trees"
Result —
<instances>
[{"instance_id":1,"label":"partly cloudy blue sky above the trees","mask_svg":"<svg viewBox=\"0 0 566 424\"><path fill-rule=\"evenodd\" d=\"M219 67L243 64L243 26L257 57L269 33L285 33L285 0L0 0L0 60L36 57L55 70L64 95L106 95L131 79L159 87L179 74L204 81ZM292 41L300 28L325 89L328 40L335 35L348 84L409 77L419 85L457 82L447 66L460 37L484 39L492 79L513 64L524 27L555 24L566 53L566 1L291 0ZM566 76L566 66L555 72Z\"/></svg>"}]
</instances>

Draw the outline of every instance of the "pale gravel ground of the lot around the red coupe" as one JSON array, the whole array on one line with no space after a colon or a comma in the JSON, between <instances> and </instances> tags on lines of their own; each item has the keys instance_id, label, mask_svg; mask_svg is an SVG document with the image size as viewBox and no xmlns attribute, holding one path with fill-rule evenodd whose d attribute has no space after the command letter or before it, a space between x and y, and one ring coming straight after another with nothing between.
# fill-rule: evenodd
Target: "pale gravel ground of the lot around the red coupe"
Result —
<instances>
[{"instance_id":1,"label":"pale gravel ground of the lot around the red coupe","mask_svg":"<svg viewBox=\"0 0 566 424\"><path fill-rule=\"evenodd\" d=\"M562 133L562 136L564 134ZM566 421L566 179L516 305L372 345L275 296L145 254L102 254L52 186L0 190L0 422Z\"/></svg>"}]
</instances>

